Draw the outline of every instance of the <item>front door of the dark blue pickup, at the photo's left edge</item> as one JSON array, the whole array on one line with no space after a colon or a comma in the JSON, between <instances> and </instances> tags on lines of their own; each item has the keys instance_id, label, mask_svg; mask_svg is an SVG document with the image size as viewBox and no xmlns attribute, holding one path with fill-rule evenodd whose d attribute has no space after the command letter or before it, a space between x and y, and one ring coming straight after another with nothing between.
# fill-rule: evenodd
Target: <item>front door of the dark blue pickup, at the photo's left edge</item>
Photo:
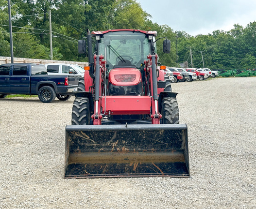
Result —
<instances>
[{"instance_id":1,"label":"front door of the dark blue pickup, at the photo's left edge","mask_svg":"<svg viewBox=\"0 0 256 209\"><path fill-rule=\"evenodd\" d=\"M0 66L0 93L10 92L10 68L11 65Z\"/></svg>"}]
</instances>

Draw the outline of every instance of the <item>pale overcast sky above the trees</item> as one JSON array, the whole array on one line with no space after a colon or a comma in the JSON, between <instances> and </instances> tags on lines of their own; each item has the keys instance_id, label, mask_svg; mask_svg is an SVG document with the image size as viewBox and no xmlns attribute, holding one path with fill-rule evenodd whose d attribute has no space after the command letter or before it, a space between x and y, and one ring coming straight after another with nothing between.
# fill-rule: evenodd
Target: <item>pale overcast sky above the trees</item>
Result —
<instances>
[{"instance_id":1,"label":"pale overcast sky above the trees","mask_svg":"<svg viewBox=\"0 0 256 209\"><path fill-rule=\"evenodd\" d=\"M256 21L256 0L137 0L152 22L190 35L228 31Z\"/></svg>"}]
</instances>

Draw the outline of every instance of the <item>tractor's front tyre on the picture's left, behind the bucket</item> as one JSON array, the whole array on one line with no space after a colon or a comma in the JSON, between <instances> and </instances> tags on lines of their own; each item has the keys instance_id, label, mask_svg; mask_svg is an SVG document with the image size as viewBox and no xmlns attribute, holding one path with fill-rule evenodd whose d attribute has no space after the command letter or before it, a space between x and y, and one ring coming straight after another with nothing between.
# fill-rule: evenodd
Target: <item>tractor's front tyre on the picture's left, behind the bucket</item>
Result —
<instances>
[{"instance_id":1,"label":"tractor's front tyre on the picture's left, behind the bucket","mask_svg":"<svg viewBox=\"0 0 256 209\"><path fill-rule=\"evenodd\" d=\"M77 97L72 107L72 125L89 125L90 124L90 104L86 97Z\"/></svg>"}]
</instances>

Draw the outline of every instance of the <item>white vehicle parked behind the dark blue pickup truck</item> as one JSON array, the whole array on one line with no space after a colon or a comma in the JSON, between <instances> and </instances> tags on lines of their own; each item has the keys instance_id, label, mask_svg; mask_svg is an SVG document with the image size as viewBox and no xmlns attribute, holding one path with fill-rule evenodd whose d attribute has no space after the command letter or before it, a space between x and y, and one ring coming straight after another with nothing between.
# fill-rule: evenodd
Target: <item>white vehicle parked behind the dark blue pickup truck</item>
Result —
<instances>
[{"instance_id":1,"label":"white vehicle parked behind the dark blue pickup truck","mask_svg":"<svg viewBox=\"0 0 256 209\"><path fill-rule=\"evenodd\" d=\"M63 64L63 63L48 63L45 64L48 75L67 75L75 74L85 76L85 70L79 65Z\"/></svg>"}]
</instances>

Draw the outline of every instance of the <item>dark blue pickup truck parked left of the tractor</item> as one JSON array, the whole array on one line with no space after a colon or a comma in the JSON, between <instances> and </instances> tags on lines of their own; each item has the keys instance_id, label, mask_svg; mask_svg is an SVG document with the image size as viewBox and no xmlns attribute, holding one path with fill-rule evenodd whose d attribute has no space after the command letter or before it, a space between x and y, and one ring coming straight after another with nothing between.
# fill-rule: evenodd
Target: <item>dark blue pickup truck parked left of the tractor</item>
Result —
<instances>
[{"instance_id":1,"label":"dark blue pickup truck parked left of the tractor","mask_svg":"<svg viewBox=\"0 0 256 209\"><path fill-rule=\"evenodd\" d=\"M78 87L80 75L47 75L43 64L0 65L0 98L7 94L38 95L43 103L68 100Z\"/></svg>"}]
</instances>

